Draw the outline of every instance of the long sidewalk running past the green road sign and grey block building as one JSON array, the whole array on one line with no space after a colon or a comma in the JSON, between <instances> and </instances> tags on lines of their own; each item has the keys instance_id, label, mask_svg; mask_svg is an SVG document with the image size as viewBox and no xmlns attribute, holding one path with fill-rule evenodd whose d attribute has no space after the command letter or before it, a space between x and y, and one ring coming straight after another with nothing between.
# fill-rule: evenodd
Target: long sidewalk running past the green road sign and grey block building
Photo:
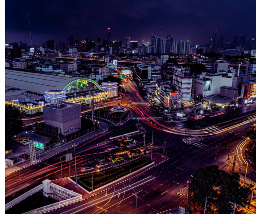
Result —
<instances>
[{"instance_id":1,"label":"long sidewalk running past the green road sign and grey block building","mask_svg":"<svg viewBox=\"0 0 256 214\"><path fill-rule=\"evenodd\" d=\"M97 130L96 130L96 131L90 132L86 135L83 135L82 137L74 139L73 141L59 145L58 147L55 147L54 149L44 151L43 153L40 153L40 155L36 156L36 159L38 159L38 161L36 161L34 163L31 163L30 159L24 161L24 163L22 161L15 163L14 165L12 165L10 167L5 168L5 176L15 173L16 171L22 170L23 168L33 165L35 163L38 163L38 162L40 162L40 160L46 159L47 157L49 157L51 155L55 155L56 153L58 153L60 151L68 149L69 147L71 147L72 143L79 144L83 141L86 141L87 139L95 137L96 135L100 135L100 134L106 132L107 130L108 130L108 125L105 124L104 122L100 122L100 129L98 130L98 134L97 134ZM40 158L40 160L39 160L39 158ZM6 159L8 159L8 157Z\"/></svg>"}]
</instances>

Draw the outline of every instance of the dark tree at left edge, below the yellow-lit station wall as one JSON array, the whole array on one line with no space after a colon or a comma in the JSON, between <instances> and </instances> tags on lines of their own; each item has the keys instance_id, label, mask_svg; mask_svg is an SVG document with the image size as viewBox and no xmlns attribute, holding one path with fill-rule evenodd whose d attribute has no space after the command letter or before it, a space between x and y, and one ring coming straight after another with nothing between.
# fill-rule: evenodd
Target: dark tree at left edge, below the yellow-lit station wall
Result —
<instances>
[{"instance_id":1,"label":"dark tree at left edge, below the yellow-lit station wall","mask_svg":"<svg viewBox=\"0 0 256 214\"><path fill-rule=\"evenodd\" d=\"M12 137L21 132L23 126L22 114L15 107L6 104L5 105L5 147L11 148Z\"/></svg>"}]
</instances>

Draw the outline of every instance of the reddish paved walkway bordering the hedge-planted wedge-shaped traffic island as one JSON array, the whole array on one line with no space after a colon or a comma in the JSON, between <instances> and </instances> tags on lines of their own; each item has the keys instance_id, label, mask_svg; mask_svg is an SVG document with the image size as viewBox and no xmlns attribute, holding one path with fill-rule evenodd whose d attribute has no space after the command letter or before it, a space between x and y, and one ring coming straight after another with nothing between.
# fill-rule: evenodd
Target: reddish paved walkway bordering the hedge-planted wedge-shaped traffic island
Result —
<instances>
[{"instance_id":1,"label":"reddish paved walkway bordering the hedge-planted wedge-shaped traffic island","mask_svg":"<svg viewBox=\"0 0 256 214\"><path fill-rule=\"evenodd\" d=\"M150 156L151 156L151 154L146 155L146 157L150 157ZM89 198L93 195L99 194L101 192L104 192L105 190L112 188L120 183L123 183L124 181L127 181L133 177L136 177L136 176L140 175L141 173L144 173L145 171L152 169L152 167L155 167L155 166L159 165L160 163L163 163L164 161L168 160L168 158L162 157L162 155L160 155L160 154L153 154L152 158L153 158L153 161L155 162L153 165L150 165L150 166L142 169L139 172L134 172L131 175L127 175L124 178L122 178L121 180L111 183L108 186L105 186L104 189L98 189L98 190L94 191L93 194L90 194L90 193L84 191L80 187L76 187L76 185L72 181L68 180L68 177L64 178L64 179L54 180L54 181L52 181L52 183L59 185L61 187L67 188L69 190L72 190L74 192L77 192L78 194L82 194L83 199L85 199L85 198ZM72 177L74 177L74 176L72 176Z\"/></svg>"}]
</instances>

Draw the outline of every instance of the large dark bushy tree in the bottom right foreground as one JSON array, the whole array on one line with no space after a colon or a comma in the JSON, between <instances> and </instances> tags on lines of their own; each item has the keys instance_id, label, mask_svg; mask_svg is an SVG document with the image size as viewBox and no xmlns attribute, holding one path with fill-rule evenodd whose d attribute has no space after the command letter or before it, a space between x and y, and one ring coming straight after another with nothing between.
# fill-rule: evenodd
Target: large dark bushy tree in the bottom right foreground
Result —
<instances>
[{"instance_id":1,"label":"large dark bushy tree in the bottom right foreground","mask_svg":"<svg viewBox=\"0 0 256 214\"><path fill-rule=\"evenodd\" d=\"M212 204L217 208L217 213L230 214L232 211L230 201L246 206L250 200L248 197L250 189L242 187L239 179L240 176L237 173L229 175L225 171L219 170L217 165L200 168L195 171L191 181L190 191L193 192L191 200L198 206L202 206L205 203L205 198L211 196L215 198ZM219 187L220 191L215 191L213 187ZM237 213L242 214L242 211L237 211Z\"/></svg>"}]
</instances>

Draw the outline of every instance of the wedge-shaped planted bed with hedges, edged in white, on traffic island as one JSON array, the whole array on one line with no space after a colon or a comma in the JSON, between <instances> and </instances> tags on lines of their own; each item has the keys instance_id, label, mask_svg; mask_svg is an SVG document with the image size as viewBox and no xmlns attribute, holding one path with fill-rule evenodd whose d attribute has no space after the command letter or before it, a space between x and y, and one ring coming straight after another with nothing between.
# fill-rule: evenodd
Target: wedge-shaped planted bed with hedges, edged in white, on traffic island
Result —
<instances>
[{"instance_id":1,"label":"wedge-shaped planted bed with hedges, edged in white, on traffic island","mask_svg":"<svg viewBox=\"0 0 256 214\"><path fill-rule=\"evenodd\" d=\"M124 178L131 173L139 171L144 167L148 167L149 165L154 164L154 161L151 161L147 157L141 157L134 161L130 161L129 163L125 163L122 165L118 165L113 168L109 168L106 170L88 173L86 175L81 175L77 177L78 185L83 188L87 192L96 191L99 188L103 188L106 185L110 185L112 182L116 182L119 179ZM92 189L92 177L93 177L93 189ZM74 183L76 182L76 178L70 178Z\"/></svg>"}]
</instances>

